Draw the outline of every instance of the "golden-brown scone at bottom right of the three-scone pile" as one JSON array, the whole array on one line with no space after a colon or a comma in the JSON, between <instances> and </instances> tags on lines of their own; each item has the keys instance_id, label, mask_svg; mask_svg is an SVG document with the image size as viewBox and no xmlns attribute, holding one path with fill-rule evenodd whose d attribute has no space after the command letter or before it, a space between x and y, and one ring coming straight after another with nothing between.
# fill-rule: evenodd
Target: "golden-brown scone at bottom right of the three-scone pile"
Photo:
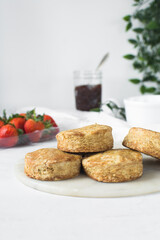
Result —
<instances>
[{"instance_id":1,"label":"golden-brown scone at bottom right of the three-scone pile","mask_svg":"<svg viewBox=\"0 0 160 240\"><path fill-rule=\"evenodd\" d=\"M126 182L143 174L142 155L129 149L113 149L82 160L86 174L99 182Z\"/></svg>"}]
</instances>

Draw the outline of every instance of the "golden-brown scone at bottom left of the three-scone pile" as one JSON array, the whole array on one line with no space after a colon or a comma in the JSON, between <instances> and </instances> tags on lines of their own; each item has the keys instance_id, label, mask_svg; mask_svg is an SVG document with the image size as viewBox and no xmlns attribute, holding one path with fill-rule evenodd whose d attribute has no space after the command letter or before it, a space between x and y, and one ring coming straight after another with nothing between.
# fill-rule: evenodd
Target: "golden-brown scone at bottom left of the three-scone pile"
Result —
<instances>
[{"instance_id":1,"label":"golden-brown scone at bottom left of the three-scone pile","mask_svg":"<svg viewBox=\"0 0 160 240\"><path fill-rule=\"evenodd\" d=\"M69 179L79 175L81 159L80 155L42 148L26 154L24 171L27 176L39 180Z\"/></svg>"}]
</instances>

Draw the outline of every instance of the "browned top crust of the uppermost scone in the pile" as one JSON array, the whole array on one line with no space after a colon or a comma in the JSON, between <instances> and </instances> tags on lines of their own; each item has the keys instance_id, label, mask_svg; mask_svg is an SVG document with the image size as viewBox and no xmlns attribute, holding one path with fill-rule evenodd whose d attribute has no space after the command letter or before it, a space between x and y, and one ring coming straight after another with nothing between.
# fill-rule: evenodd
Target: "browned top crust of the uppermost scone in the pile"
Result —
<instances>
[{"instance_id":1,"label":"browned top crust of the uppermost scone in the pile","mask_svg":"<svg viewBox=\"0 0 160 240\"><path fill-rule=\"evenodd\" d=\"M57 134L57 138L61 135L64 137L69 137L69 136L79 136L79 137L84 137L87 135L94 135L98 134L99 132L103 131L112 131L112 128L107 126L107 125L99 125L99 124L92 124L86 127L82 128L77 128L77 129L72 129L72 130L67 130L67 131L62 131Z\"/></svg>"}]
</instances>

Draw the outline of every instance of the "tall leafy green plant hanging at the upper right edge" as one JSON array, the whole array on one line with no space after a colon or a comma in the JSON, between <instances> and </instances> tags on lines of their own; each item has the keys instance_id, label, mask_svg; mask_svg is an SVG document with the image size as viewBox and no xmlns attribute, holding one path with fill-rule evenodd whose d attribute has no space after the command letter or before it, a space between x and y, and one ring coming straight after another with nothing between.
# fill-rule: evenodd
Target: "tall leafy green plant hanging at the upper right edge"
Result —
<instances>
[{"instance_id":1,"label":"tall leafy green plant hanging at the upper right edge","mask_svg":"<svg viewBox=\"0 0 160 240\"><path fill-rule=\"evenodd\" d=\"M127 54L140 78L129 81L140 86L142 94L160 94L160 0L134 0L133 15L127 15L126 31L132 30L135 38L128 39L136 54ZM135 27L135 24L139 27ZM149 83L149 84L148 84Z\"/></svg>"}]
</instances>

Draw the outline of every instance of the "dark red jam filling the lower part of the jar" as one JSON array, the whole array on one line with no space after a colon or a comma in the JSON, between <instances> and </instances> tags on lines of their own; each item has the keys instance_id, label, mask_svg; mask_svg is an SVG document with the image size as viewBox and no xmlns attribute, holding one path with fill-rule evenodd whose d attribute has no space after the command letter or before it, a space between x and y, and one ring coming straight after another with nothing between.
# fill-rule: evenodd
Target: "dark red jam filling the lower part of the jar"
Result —
<instances>
[{"instance_id":1,"label":"dark red jam filling the lower part of the jar","mask_svg":"<svg viewBox=\"0 0 160 240\"><path fill-rule=\"evenodd\" d=\"M76 108L81 111L89 111L98 108L101 104L101 84L81 85L75 88Z\"/></svg>"}]
</instances>

